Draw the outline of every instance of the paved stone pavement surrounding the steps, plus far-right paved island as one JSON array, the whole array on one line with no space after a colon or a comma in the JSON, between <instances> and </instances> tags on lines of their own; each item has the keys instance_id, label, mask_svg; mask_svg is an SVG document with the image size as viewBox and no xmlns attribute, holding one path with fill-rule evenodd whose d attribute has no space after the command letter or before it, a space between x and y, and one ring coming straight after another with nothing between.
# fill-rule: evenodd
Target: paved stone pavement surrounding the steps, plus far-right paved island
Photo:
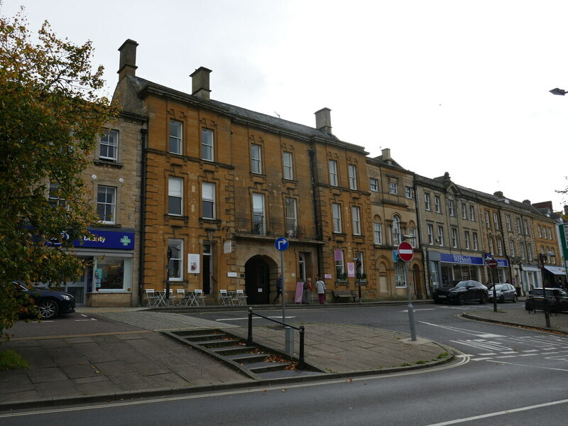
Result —
<instances>
[{"instance_id":1,"label":"paved stone pavement surrounding the steps, plus far-right paved island","mask_svg":"<svg viewBox=\"0 0 568 426\"><path fill-rule=\"evenodd\" d=\"M21 322L13 327L15 336L1 344L0 349L18 352L28 360L30 368L0 371L0 410L322 378L297 376L254 381L160 333L220 328L217 322L150 310L84 307L80 311L91 320L99 317L104 329L95 328L94 333L89 333L89 327L80 329L78 325L76 334L46 333L38 337L38 332L29 332L38 324ZM542 312L525 310L476 310L469 316L539 328L545 324ZM568 315L552 315L551 322L557 331L568 332ZM57 321L54 324L56 328ZM417 342L411 342L406 334L382 329L345 324L304 325L306 362L326 371L324 378L425 368L449 361L453 356L451 349L441 344L420 337ZM246 337L246 327L222 324L222 328ZM253 337L263 346L284 351L281 328L255 326ZM295 350L298 350L297 337Z\"/></svg>"}]
</instances>

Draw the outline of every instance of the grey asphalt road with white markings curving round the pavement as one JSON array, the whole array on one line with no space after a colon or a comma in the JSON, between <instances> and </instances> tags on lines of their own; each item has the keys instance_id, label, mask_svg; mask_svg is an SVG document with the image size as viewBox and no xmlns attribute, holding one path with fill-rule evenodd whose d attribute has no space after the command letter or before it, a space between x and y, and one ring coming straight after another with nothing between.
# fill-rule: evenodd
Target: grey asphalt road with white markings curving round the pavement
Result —
<instances>
[{"instance_id":1,"label":"grey asphalt road with white markings curving round the pavement","mask_svg":"<svg viewBox=\"0 0 568 426\"><path fill-rule=\"evenodd\" d=\"M487 306L415 306L417 334L448 344L457 361L425 371L266 389L9 413L2 425L567 425L568 337L474 322ZM521 304L500 309L523 309ZM259 313L278 317L278 310ZM290 322L345 322L408 332L405 306L287 310ZM246 324L241 312L209 320ZM263 321L263 320L258 320Z\"/></svg>"}]
</instances>

